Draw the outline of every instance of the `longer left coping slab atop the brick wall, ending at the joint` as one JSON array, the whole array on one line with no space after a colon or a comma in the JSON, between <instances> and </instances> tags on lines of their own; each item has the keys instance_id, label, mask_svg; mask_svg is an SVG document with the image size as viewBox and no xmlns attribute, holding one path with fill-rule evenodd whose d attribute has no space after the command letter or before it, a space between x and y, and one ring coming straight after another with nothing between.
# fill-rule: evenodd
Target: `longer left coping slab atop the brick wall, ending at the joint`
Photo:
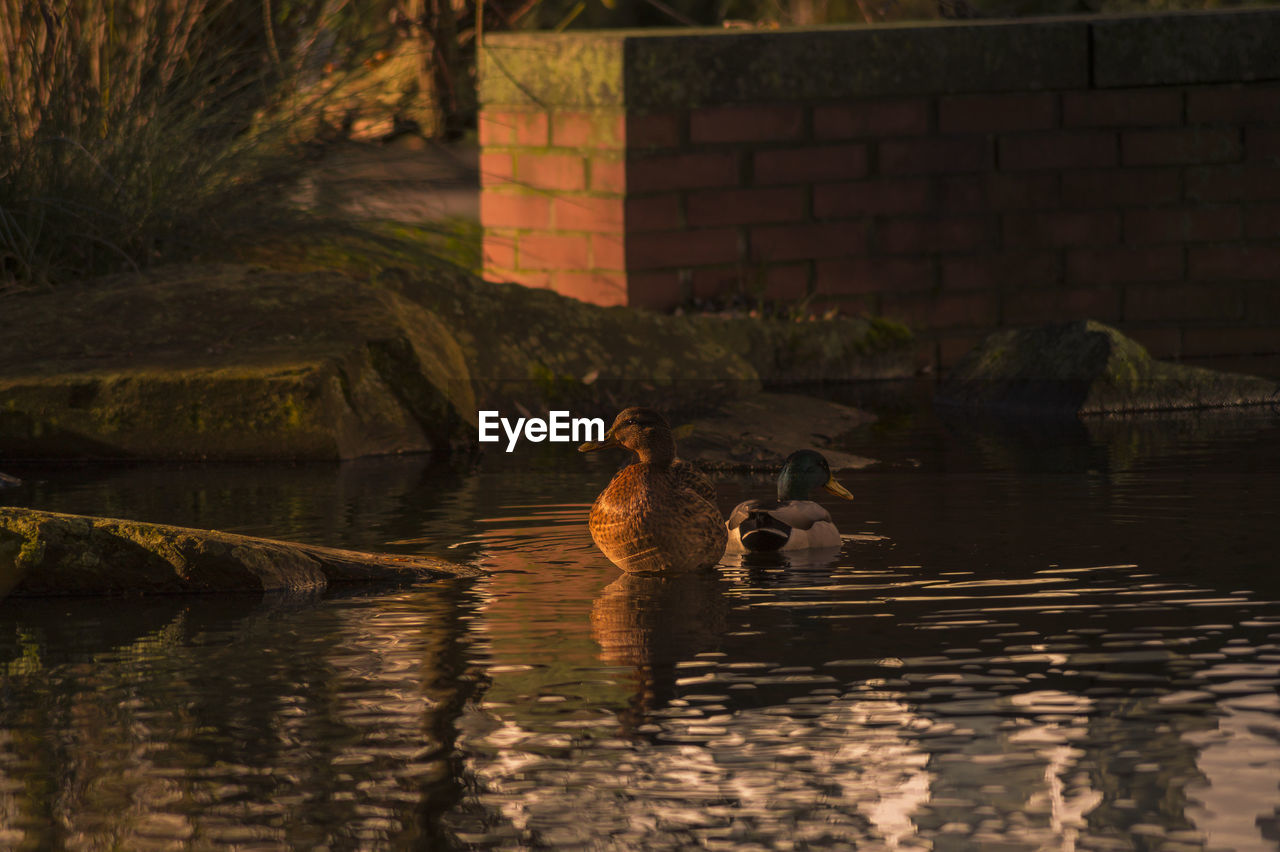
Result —
<instances>
[{"instance_id":1,"label":"longer left coping slab atop the brick wall, ending at the joint","mask_svg":"<svg viewBox=\"0 0 1280 852\"><path fill-rule=\"evenodd\" d=\"M1080 19L777 31L577 31L485 40L480 102L652 111L736 102L1084 88Z\"/></svg>"}]
</instances>

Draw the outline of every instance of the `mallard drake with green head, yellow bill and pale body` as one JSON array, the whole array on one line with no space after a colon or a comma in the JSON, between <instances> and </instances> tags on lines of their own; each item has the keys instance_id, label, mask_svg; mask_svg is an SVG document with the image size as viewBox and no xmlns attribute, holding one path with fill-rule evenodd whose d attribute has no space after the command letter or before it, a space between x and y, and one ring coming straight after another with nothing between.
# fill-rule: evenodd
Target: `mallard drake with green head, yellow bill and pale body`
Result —
<instances>
[{"instance_id":1,"label":"mallard drake with green head, yellow bill and pale body","mask_svg":"<svg viewBox=\"0 0 1280 852\"><path fill-rule=\"evenodd\" d=\"M745 500L728 516L730 550L801 550L838 548L831 513L809 499L822 486L836 496L854 495L831 475L822 453L796 450L782 463L777 500Z\"/></svg>"}]
</instances>

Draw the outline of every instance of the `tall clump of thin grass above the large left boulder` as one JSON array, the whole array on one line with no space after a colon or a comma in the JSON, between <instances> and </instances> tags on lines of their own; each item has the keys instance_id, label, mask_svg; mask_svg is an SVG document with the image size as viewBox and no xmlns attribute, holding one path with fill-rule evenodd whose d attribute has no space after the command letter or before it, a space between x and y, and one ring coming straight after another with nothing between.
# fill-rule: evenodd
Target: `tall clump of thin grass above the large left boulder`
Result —
<instances>
[{"instance_id":1,"label":"tall clump of thin grass above the large left boulder","mask_svg":"<svg viewBox=\"0 0 1280 852\"><path fill-rule=\"evenodd\" d=\"M264 28L244 0L0 0L0 293L294 215L291 129L316 99L287 97L306 58Z\"/></svg>"}]
</instances>

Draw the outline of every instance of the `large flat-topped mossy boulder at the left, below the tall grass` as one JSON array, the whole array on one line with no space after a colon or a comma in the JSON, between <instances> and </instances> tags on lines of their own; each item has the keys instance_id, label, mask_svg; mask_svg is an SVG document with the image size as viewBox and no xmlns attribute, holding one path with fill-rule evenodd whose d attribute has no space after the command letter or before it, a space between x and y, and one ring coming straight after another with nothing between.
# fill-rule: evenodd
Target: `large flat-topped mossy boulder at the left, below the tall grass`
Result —
<instances>
[{"instance_id":1,"label":"large flat-topped mossy boulder at the left, below the tall grass","mask_svg":"<svg viewBox=\"0 0 1280 852\"><path fill-rule=\"evenodd\" d=\"M474 418L447 329L339 272L165 267L5 307L14 455L355 458L447 449Z\"/></svg>"}]
</instances>

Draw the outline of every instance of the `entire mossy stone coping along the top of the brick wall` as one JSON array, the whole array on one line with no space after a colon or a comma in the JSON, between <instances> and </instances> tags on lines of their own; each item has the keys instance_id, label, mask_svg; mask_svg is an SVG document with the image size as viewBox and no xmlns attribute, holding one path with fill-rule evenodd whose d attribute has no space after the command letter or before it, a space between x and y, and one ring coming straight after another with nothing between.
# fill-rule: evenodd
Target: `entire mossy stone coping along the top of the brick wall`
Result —
<instances>
[{"instance_id":1,"label":"entire mossy stone coping along the top of the brick wall","mask_svg":"<svg viewBox=\"0 0 1280 852\"><path fill-rule=\"evenodd\" d=\"M1280 79L1280 9L768 31L497 33L480 101L705 105Z\"/></svg>"}]
</instances>

